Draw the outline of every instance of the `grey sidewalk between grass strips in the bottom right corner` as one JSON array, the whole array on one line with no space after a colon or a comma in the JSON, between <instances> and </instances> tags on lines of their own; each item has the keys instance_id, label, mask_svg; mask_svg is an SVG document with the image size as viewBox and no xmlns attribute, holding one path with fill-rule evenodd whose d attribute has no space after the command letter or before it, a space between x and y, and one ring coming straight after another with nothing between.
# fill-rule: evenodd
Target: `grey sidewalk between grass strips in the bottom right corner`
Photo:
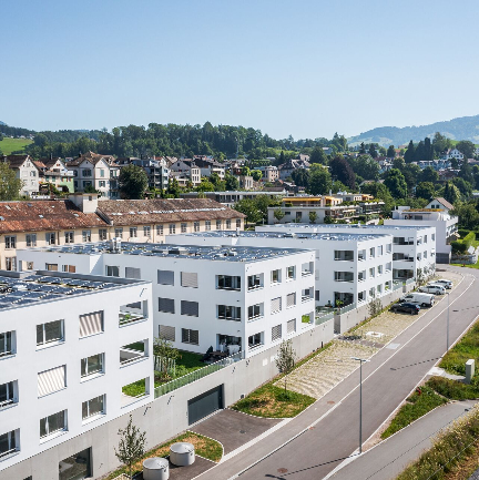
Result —
<instances>
[{"instance_id":1,"label":"grey sidewalk between grass strips in the bottom right corner","mask_svg":"<svg viewBox=\"0 0 479 480\"><path fill-rule=\"evenodd\" d=\"M422 451L431 447L431 439L442 428L466 413L476 401L456 401L436 408L409 427L363 453L344 462L344 467L329 476L334 480L391 480L395 479Z\"/></svg>"}]
</instances>

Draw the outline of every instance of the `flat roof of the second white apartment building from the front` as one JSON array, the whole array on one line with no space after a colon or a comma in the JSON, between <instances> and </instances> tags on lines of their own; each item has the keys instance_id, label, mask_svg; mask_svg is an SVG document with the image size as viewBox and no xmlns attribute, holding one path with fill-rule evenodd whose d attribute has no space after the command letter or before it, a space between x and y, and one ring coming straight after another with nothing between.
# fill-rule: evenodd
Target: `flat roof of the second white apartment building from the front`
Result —
<instances>
[{"instance_id":1,"label":"flat roof of the second white apartment building from the front","mask_svg":"<svg viewBox=\"0 0 479 480\"><path fill-rule=\"evenodd\" d=\"M142 255L155 257L175 257L208 259L220 262L259 262L277 256L295 255L310 252L306 248L269 248L253 246L205 246L176 244L146 244L122 242L120 249L113 248L112 242L96 242L90 244L45 246L28 248L28 252L57 252L78 255L100 255L102 253ZM109 277L110 278L110 277Z\"/></svg>"}]
</instances>

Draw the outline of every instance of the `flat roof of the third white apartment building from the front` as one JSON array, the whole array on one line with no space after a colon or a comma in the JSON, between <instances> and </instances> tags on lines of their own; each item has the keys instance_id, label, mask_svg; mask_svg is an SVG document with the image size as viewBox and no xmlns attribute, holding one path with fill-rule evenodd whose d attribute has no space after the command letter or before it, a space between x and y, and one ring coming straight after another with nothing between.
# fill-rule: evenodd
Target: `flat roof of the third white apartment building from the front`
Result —
<instances>
[{"instance_id":1,"label":"flat roof of the third white apartment building from the front","mask_svg":"<svg viewBox=\"0 0 479 480\"><path fill-rule=\"evenodd\" d=\"M283 232L231 232L231 231L215 231L215 232L197 232L183 234L184 236L196 236L196 237L254 237L254 238L299 238L299 239L319 239L319 241L348 241L348 242L365 242L375 238L384 237L388 234L367 234L360 232L354 233L339 233L335 232L334 235L330 233L317 233L317 232L295 232L295 233L283 233Z\"/></svg>"}]
</instances>

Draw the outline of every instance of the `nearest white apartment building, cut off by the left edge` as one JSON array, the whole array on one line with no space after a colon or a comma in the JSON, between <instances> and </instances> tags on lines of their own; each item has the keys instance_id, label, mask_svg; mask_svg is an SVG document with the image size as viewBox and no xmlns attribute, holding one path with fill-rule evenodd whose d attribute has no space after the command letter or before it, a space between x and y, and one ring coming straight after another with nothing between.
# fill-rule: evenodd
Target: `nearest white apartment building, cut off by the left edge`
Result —
<instances>
[{"instance_id":1,"label":"nearest white apartment building, cut off by the left edge","mask_svg":"<svg viewBox=\"0 0 479 480\"><path fill-rule=\"evenodd\" d=\"M47 450L60 480L91 476L84 433L153 399L151 306L146 282L0 272L0 478Z\"/></svg>"}]
</instances>

